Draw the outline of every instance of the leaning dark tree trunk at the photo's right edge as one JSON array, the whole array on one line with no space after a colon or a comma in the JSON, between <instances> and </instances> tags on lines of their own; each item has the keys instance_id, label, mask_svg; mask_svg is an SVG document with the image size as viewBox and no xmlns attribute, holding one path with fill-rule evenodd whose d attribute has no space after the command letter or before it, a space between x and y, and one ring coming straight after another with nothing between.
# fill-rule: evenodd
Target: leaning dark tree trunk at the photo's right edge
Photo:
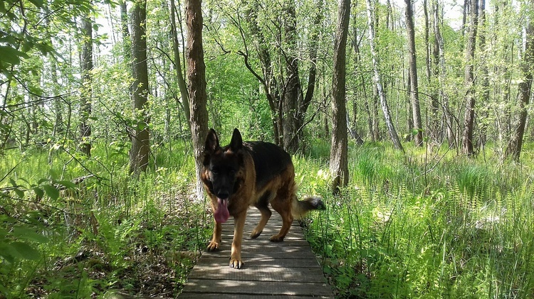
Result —
<instances>
[{"instance_id":1,"label":"leaning dark tree trunk at the photo's right edge","mask_svg":"<svg viewBox=\"0 0 534 299\"><path fill-rule=\"evenodd\" d=\"M530 1L530 7L534 6L534 1ZM530 20L526 28L525 52L521 62L523 80L518 85L519 115L513 126L514 130L506 148L506 154L512 156L515 161L519 161L521 148L523 147L523 136L527 122L527 108L532 95L533 65L534 65L534 21Z\"/></svg>"}]
</instances>

